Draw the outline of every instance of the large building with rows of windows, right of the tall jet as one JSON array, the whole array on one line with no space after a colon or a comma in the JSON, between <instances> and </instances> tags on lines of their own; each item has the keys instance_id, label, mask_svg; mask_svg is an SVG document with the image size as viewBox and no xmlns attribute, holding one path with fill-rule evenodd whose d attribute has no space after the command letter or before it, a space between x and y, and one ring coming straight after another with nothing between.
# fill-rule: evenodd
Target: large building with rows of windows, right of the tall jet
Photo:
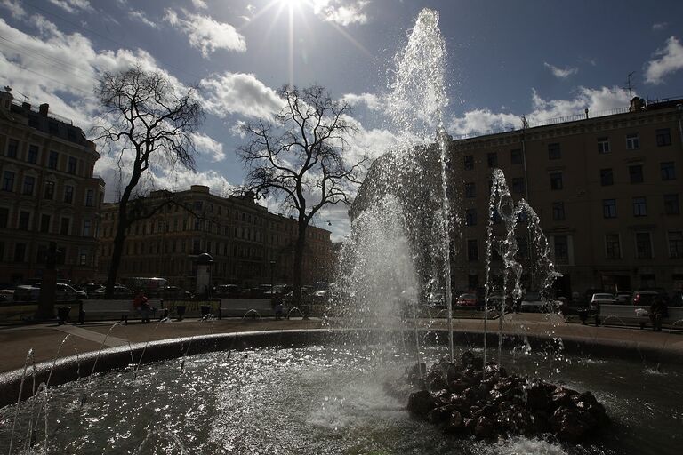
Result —
<instances>
[{"instance_id":1,"label":"large building with rows of windows, right of the tall jet","mask_svg":"<svg viewBox=\"0 0 683 455\"><path fill-rule=\"evenodd\" d=\"M634 99L614 115L454 140L452 184L462 191L454 287L484 285L491 176L500 168L512 197L540 217L563 274L558 296L683 289L682 104ZM525 222L518 228L518 259L532 269ZM502 273L500 257L492 268ZM528 274L523 281L534 287Z\"/></svg>"}]
</instances>

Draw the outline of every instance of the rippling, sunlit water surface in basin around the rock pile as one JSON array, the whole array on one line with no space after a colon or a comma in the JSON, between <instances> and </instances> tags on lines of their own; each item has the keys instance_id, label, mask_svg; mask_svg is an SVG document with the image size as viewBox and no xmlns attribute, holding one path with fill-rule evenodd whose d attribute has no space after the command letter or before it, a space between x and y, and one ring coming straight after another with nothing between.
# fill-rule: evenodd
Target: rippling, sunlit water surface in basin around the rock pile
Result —
<instances>
[{"instance_id":1,"label":"rippling, sunlit water surface in basin around the rock pile","mask_svg":"<svg viewBox=\"0 0 683 455\"><path fill-rule=\"evenodd\" d=\"M53 387L47 422L37 422L36 453L44 450L45 425L51 453L679 453L683 368L665 365L657 372L621 360L564 357L550 363L541 353L506 355L509 371L591 390L614 425L584 446L526 438L492 442L454 439L411 419L405 402L386 395L382 382L412 358L377 352L221 352L188 357L182 370L178 360L143 365L134 382L133 371L114 371ZM424 356L434 361L444 354L434 347ZM20 405L13 453L25 446L34 400ZM3 453L15 409L0 410Z\"/></svg>"}]
</instances>

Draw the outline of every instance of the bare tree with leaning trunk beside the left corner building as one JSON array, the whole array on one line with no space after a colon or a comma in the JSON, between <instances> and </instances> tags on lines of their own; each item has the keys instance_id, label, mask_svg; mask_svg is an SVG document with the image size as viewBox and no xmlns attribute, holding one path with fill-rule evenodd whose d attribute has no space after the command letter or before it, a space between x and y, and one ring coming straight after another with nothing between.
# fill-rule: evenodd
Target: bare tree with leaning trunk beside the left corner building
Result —
<instances>
[{"instance_id":1,"label":"bare tree with leaning trunk beside the left corner building","mask_svg":"<svg viewBox=\"0 0 683 455\"><path fill-rule=\"evenodd\" d=\"M122 178L130 174L118 201L117 234L107 275L110 296L117 281L126 229L161 208L141 210L141 204L135 203L140 196L136 188L141 178L153 164L180 164L194 169L197 150L192 134L204 119L204 111L196 90L179 89L164 74L140 67L104 73L95 94L102 109L102 124L94 128L97 140L104 141L117 154Z\"/></svg>"}]
</instances>

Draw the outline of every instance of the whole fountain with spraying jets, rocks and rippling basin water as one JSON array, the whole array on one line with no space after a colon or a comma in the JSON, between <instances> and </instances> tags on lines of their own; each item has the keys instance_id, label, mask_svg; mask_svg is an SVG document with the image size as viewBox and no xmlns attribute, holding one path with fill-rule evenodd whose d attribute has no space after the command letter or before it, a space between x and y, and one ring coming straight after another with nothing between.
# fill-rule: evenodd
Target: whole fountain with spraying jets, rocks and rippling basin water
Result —
<instances>
[{"instance_id":1,"label":"whole fountain with spraying jets, rocks and rippling basin water","mask_svg":"<svg viewBox=\"0 0 683 455\"><path fill-rule=\"evenodd\" d=\"M538 339L525 334L519 352L521 339L504 339L506 297L520 297L519 217L528 220L540 251L542 292L556 275L538 217L524 201L512 202L502 172L494 173L489 215L502 218L504 234L495 237L491 221L487 245L487 261L495 249L505 266L495 352L486 331L483 337L454 331L450 255L457 252L459 219L451 208L458 192L449 182L458 180L448 166L444 128L445 52L438 13L424 10L390 84L394 126L405 134L397 152L374 164L352 209L328 329L215 334L210 325L212 334L205 336L100 350L75 363L29 369L29 355L24 370L4 382L18 387L20 402L0 409L0 452L578 455L679 449L667 430L671 419L683 421L679 367L661 372L627 360L586 362L585 344L576 340L552 340L549 360ZM421 317L423 297L439 289L446 294L445 327ZM487 279L485 327L492 291ZM457 337L468 337L470 346L461 349ZM579 354L556 355L556 344ZM658 361L663 350L655 353ZM497 362L486 361L488 355ZM81 368L90 376L80 378ZM28 383L34 384L30 393ZM35 396L21 401L27 395ZM36 403L44 403L37 414ZM607 425L607 415L613 425L595 431Z\"/></svg>"}]
</instances>

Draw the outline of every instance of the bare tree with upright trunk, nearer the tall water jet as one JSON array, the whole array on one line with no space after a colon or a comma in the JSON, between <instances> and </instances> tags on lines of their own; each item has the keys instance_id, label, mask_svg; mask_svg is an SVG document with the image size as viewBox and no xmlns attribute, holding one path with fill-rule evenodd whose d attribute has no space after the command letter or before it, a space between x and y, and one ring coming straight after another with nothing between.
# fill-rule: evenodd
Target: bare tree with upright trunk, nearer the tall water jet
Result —
<instances>
[{"instance_id":1,"label":"bare tree with upright trunk, nearer the tall water jet","mask_svg":"<svg viewBox=\"0 0 683 455\"><path fill-rule=\"evenodd\" d=\"M272 121L243 124L248 142L237 154L248 170L246 187L257 197L284 198L297 217L293 300L299 304L306 229L325 205L351 204L351 188L360 183L366 160L348 164L344 159L350 135L357 132L346 102L332 100L317 85L302 90L285 86L278 95L285 107Z\"/></svg>"}]
</instances>

